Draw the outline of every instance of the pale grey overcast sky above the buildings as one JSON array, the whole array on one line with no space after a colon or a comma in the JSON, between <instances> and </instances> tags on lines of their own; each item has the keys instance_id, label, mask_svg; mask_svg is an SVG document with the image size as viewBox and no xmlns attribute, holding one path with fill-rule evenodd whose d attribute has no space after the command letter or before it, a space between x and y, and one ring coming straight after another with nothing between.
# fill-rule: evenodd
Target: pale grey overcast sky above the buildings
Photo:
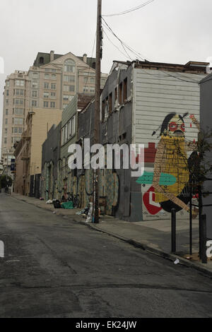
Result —
<instances>
[{"instance_id":1,"label":"pale grey overcast sky above the buildings","mask_svg":"<svg viewBox=\"0 0 212 332\"><path fill-rule=\"evenodd\" d=\"M102 0L102 15L139 6L146 0ZM28 70L37 52L77 56L92 54L96 30L97 0L1 0L0 128L2 93L6 75ZM211 0L155 0L138 11L105 17L112 30L146 59L185 64L206 61L212 56ZM120 43L107 32L123 51ZM93 54L95 56L95 54ZM131 54L131 58L136 58ZM102 72L109 72L113 60L125 61L107 37L103 40ZM0 132L1 135L1 132Z\"/></svg>"}]
</instances>

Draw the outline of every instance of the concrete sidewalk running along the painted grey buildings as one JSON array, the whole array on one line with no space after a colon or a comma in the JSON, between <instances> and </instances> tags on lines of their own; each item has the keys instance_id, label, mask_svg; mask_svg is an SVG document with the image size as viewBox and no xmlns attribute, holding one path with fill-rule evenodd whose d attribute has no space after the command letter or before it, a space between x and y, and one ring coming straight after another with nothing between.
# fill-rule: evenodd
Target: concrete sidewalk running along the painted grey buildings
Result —
<instances>
[{"instance_id":1,"label":"concrete sidewalk running along the painted grey buildings","mask_svg":"<svg viewBox=\"0 0 212 332\"><path fill-rule=\"evenodd\" d=\"M122 239L124 242L133 244L135 247L141 247L148 252L157 254L166 259L175 261L179 259L183 265L195 268L198 271L212 276L212 259L208 259L207 264L202 264L199 261L199 226L198 220L193 221L193 256L189 257L189 221L177 219L177 254L171 254L171 223L170 220L153 220L147 222L130 223L128 221L119 220L110 217L109 215L101 216L100 223L86 223L86 219L82 215L76 213L81 209L65 210L55 209L52 204L47 204L45 201L40 201L34 197L21 196L12 193L13 198L20 199L26 203L33 204L38 208L44 208L47 211L52 211L57 215L62 215L65 218L70 218L77 223L83 223L89 227L105 232L108 235Z\"/></svg>"}]
</instances>

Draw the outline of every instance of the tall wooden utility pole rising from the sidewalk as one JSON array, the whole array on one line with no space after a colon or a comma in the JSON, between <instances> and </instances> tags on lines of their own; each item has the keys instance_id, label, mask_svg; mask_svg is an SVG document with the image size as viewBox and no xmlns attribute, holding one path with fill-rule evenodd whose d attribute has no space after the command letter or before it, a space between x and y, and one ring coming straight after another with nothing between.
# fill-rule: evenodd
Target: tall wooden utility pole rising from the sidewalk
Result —
<instances>
[{"instance_id":1,"label":"tall wooden utility pole rising from the sidewalk","mask_svg":"<svg viewBox=\"0 0 212 332\"><path fill-rule=\"evenodd\" d=\"M96 29L96 55L95 55L95 115L94 115L94 142L100 141L100 81L101 81L101 59L102 59L102 0L98 0L97 29ZM99 223L99 169L95 170L94 188L94 223Z\"/></svg>"}]
</instances>

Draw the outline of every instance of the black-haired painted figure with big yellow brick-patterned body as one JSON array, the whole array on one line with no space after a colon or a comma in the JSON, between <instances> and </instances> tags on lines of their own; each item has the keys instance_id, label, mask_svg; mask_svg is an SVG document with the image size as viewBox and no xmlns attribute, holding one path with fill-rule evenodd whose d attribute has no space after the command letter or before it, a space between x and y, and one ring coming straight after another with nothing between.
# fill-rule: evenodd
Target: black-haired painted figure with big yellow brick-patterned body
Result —
<instances>
[{"instance_id":1,"label":"black-haired painted figure with big yellow brick-patterned body","mask_svg":"<svg viewBox=\"0 0 212 332\"><path fill-rule=\"evenodd\" d=\"M189 196L184 195L184 190L189 182L189 167L187 150L194 150L195 143L186 142L184 139L184 117L187 114L168 114L163 121L160 131L160 141L155 155L153 187L155 189L155 202L170 212L184 209L189 212L187 203ZM199 123L194 116L190 117L199 129ZM170 186L160 185L160 174L171 174L176 182ZM187 193L188 194L188 193Z\"/></svg>"}]
</instances>

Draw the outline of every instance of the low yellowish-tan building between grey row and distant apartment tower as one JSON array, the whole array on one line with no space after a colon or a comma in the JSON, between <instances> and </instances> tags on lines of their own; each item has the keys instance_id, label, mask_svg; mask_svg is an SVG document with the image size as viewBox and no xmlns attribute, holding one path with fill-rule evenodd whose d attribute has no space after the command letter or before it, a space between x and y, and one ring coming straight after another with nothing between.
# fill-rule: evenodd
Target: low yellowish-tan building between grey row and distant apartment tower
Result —
<instances>
[{"instance_id":1,"label":"low yellowish-tan building between grey row and distant apartment tower","mask_svg":"<svg viewBox=\"0 0 212 332\"><path fill-rule=\"evenodd\" d=\"M42 143L53 124L61 121L61 109L33 108L25 119L25 131L16 145L16 177L14 191L18 194L30 193L30 176L41 173Z\"/></svg>"}]
</instances>

